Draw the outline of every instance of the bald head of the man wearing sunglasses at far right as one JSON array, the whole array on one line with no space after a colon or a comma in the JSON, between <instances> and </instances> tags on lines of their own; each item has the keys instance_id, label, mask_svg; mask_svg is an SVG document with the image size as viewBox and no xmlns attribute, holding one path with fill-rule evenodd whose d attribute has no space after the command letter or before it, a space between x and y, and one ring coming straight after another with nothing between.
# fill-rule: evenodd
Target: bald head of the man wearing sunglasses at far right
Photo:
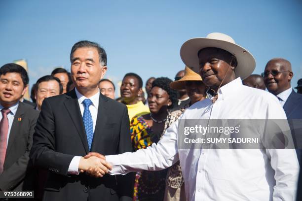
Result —
<instances>
[{"instance_id":1,"label":"bald head of the man wearing sunglasses at far right","mask_svg":"<svg viewBox=\"0 0 302 201\"><path fill-rule=\"evenodd\" d=\"M265 86L275 96L291 88L293 76L291 63L282 58L269 60L264 69Z\"/></svg>"}]
</instances>

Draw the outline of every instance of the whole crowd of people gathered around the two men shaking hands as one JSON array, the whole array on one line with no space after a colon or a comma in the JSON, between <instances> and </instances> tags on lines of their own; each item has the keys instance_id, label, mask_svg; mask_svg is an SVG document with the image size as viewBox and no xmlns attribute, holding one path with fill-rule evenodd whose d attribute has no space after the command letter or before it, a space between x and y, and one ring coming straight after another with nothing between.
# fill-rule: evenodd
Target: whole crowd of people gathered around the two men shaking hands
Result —
<instances>
[{"instance_id":1,"label":"whole crowd of people gathered around the two men shaking hands","mask_svg":"<svg viewBox=\"0 0 302 201\"><path fill-rule=\"evenodd\" d=\"M183 119L302 119L302 79L296 93L291 63L273 58L252 74L252 54L223 33L186 41L181 58L186 67L174 80L146 80L146 96L142 78L125 74L118 98L95 42L77 42L71 72L40 77L32 101L23 98L27 71L0 67L0 190L33 190L44 201L301 199L299 130L296 149L178 142Z\"/></svg>"}]
</instances>

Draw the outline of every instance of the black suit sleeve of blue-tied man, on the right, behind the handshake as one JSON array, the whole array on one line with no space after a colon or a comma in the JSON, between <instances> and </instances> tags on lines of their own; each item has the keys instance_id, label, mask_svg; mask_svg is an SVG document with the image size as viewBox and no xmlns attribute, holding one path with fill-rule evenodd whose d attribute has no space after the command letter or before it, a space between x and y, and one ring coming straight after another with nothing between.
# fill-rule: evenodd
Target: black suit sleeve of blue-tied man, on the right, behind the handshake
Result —
<instances>
[{"instance_id":1,"label":"black suit sleeve of blue-tied man, on the right, behind the handshake","mask_svg":"<svg viewBox=\"0 0 302 201\"><path fill-rule=\"evenodd\" d=\"M127 107L125 106L120 126L118 154L132 151L129 116ZM133 172L126 175L116 175L117 191L120 201L132 201L134 176Z\"/></svg>"}]
</instances>

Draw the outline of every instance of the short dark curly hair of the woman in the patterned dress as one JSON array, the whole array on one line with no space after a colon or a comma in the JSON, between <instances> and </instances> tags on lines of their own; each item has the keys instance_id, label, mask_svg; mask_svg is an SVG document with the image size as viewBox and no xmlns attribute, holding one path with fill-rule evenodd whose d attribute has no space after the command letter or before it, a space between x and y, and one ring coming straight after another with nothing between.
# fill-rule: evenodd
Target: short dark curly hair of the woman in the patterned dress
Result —
<instances>
[{"instance_id":1,"label":"short dark curly hair of the woman in the patterned dress","mask_svg":"<svg viewBox=\"0 0 302 201\"><path fill-rule=\"evenodd\" d=\"M168 108L173 108L178 103L177 91L170 87L171 82L173 81L167 77L159 77L152 82L152 88L159 87L168 93L169 99L172 102L172 104L168 106Z\"/></svg>"}]
</instances>

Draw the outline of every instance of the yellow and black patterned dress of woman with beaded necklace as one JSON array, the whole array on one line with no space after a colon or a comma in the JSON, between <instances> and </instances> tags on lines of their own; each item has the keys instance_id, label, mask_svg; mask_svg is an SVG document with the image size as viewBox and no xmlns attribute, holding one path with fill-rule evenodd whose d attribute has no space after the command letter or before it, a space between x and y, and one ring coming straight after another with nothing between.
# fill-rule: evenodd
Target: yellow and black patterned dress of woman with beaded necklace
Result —
<instances>
[{"instance_id":1,"label":"yellow and black patterned dress of woman with beaded necklace","mask_svg":"<svg viewBox=\"0 0 302 201\"><path fill-rule=\"evenodd\" d=\"M134 150L145 149L157 143L163 132L154 133L142 116L134 117L130 123ZM165 193L167 169L136 172L133 201L162 201Z\"/></svg>"}]
</instances>

